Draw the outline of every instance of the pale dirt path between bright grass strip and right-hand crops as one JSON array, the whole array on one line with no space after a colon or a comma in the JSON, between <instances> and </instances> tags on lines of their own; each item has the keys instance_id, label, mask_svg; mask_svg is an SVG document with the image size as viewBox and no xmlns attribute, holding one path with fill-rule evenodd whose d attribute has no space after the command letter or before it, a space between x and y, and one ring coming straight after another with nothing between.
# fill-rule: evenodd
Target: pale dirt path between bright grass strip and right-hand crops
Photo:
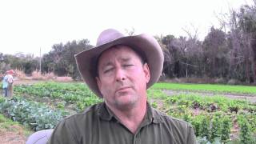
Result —
<instances>
[{"instance_id":1,"label":"pale dirt path between bright grass strip and right-hand crops","mask_svg":"<svg viewBox=\"0 0 256 144\"><path fill-rule=\"evenodd\" d=\"M192 92L192 91L186 91L186 90L163 90L167 95L177 95L177 94L198 94L198 95L203 95L203 96L214 96L217 94L210 93L210 92ZM218 95L223 95L227 98L234 98L234 99L244 99L249 102L255 103L256 104L256 95L253 94L218 94Z\"/></svg>"}]
</instances>

